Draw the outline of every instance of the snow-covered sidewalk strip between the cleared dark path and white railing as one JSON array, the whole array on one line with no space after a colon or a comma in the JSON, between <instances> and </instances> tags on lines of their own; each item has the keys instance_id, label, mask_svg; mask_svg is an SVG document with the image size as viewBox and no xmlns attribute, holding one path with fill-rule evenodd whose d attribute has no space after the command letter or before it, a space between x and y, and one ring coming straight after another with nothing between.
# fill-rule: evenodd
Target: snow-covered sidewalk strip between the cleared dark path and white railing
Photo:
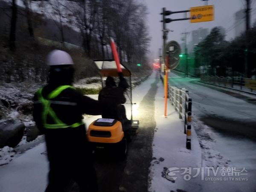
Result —
<instances>
[{"instance_id":1,"label":"snow-covered sidewalk strip between the cleared dark path and white railing","mask_svg":"<svg viewBox=\"0 0 256 192\"><path fill-rule=\"evenodd\" d=\"M153 141L153 160L150 168L150 187L151 192L170 192L171 190L182 189L190 191L200 191L195 186L194 179L186 181L183 176L176 174L172 181L166 179L166 171L169 168L200 168L201 167L201 148L197 135L192 128L192 150L186 149L186 134L184 134L184 122L179 119L171 102L167 102L167 118L164 113L164 90L163 83L159 81L157 95L155 98L155 119L156 130ZM168 170L169 169L169 170ZM177 177L175 179L175 177ZM197 190L198 189L198 190Z\"/></svg>"}]
</instances>

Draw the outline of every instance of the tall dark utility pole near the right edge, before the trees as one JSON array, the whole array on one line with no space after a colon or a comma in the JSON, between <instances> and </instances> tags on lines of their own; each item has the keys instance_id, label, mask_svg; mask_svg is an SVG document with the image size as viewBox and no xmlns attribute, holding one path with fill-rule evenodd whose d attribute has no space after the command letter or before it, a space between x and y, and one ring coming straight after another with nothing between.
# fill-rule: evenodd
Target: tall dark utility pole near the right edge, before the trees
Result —
<instances>
[{"instance_id":1,"label":"tall dark utility pole near the right edge, before the trees","mask_svg":"<svg viewBox=\"0 0 256 192\"><path fill-rule=\"evenodd\" d=\"M246 0L246 49L245 49L245 64L244 64L244 77L248 77L248 56L249 56L249 29L250 29L250 0Z\"/></svg>"}]
</instances>

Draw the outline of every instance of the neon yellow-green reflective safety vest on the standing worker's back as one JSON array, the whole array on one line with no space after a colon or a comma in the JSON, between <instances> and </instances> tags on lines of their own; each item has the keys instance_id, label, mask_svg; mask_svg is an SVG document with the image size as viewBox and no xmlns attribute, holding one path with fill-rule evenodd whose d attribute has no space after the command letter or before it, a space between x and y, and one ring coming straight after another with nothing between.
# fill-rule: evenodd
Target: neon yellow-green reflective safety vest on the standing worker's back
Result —
<instances>
[{"instance_id":1,"label":"neon yellow-green reflective safety vest on the standing worker's back","mask_svg":"<svg viewBox=\"0 0 256 192\"><path fill-rule=\"evenodd\" d=\"M38 101L43 105L43 111L42 111L42 123L44 128L48 129L55 129L55 128L76 128L79 127L80 125L83 125L83 122L77 122L72 125L67 125L66 123L62 122L61 119L59 119L56 115L56 113L52 110L51 108L51 100L57 97L63 90L67 88L72 88L74 87L70 85L63 85L57 87L55 90L53 90L49 95L47 96L47 99L45 99L42 96L42 90L43 88L39 89L36 94L38 96ZM54 102L54 101L53 101ZM55 102L56 103L56 102ZM58 102L58 104L61 104L62 102ZM65 102L63 102L65 103ZM67 102L66 102L67 103ZM67 105L67 104L66 104ZM47 123L47 116L50 116L54 120L54 124L48 124Z\"/></svg>"}]
</instances>

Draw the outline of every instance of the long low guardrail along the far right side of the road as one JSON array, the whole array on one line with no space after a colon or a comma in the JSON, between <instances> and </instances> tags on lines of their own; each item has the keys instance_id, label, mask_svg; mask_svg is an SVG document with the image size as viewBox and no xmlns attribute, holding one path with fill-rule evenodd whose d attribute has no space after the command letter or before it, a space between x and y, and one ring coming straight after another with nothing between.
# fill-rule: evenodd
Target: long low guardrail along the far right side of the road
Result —
<instances>
[{"instance_id":1,"label":"long low guardrail along the far right side of the road","mask_svg":"<svg viewBox=\"0 0 256 192\"><path fill-rule=\"evenodd\" d=\"M231 87L236 90L256 93L256 79L243 77L201 76L201 81L218 86Z\"/></svg>"}]
</instances>

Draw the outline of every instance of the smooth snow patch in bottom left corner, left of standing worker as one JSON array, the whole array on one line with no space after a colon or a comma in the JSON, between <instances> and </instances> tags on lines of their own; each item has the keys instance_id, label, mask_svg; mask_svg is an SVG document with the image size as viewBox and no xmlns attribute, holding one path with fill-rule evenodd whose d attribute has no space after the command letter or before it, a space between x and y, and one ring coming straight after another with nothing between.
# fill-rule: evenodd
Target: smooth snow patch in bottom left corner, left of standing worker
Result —
<instances>
[{"instance_id":1,"label":"smooth snow patch in bottom left corner, left of standing worker","mask_svg":"<svg viewBox=\"0 0 256 192\"><path fill-rule=\"evenodd\" d=\"M44 143L0 167L1 192L42 192L47 184L48 162Z\"/></svg>"}]
</instances>

